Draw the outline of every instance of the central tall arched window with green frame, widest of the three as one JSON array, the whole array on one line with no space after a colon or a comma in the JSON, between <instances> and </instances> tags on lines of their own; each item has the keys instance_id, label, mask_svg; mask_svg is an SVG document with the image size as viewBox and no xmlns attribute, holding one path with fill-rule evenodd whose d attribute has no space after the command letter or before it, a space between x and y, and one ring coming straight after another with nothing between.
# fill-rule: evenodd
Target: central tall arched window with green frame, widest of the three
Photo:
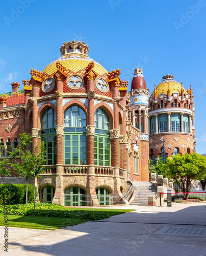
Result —
<instances>
[{"instance_id":1,"label":"central tall arched window with green frame, widest of the three","mask_svg":"<svg viewBox=\"0 0 206 256\"><path fill-rule=\"evenodd\" d=\"M64 162L86 164L86 114L77 105L64 113Z\"/></svg>"}]
</instances>

